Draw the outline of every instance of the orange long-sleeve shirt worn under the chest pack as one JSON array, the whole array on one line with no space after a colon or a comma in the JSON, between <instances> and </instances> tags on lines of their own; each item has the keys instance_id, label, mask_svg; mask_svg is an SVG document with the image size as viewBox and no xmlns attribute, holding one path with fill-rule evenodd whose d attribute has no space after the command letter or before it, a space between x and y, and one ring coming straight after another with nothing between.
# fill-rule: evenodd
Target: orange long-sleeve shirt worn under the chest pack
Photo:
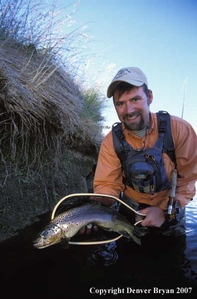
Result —
<instances>
[{"instance_id":1,"label":"orange long-sleeve shirt worn under the chest pack","mask_svg":"<svg viewBox=\"0 0 197 299\"><path fill-rule=\"evenodd\" d=\"M145 148L152 148L156 143L159 133L156 113L151 115L151 128L147 132ZM124 129L124 125L122 125ZM177 179L175 200L179 201L180 207L186 206L195 196L195 182L197 181L197 134L192 126L185 120L171 116L171 129L175 145L175 155L179 178ZM126 141L134 149L142 149L145 136L140 138L131 131L125 129ZM171 181L175 164L166 153L162 154L166 176ZM107 194L119 198L122 191L134 202L145 203L150 206L158 206L162 210L167 209L168 192L164 190L154 195L139 193L122 183L122 166L117 157L112 140L112 132L104 138L99 156L94 179L94 193Z\"/></svg>"}]
</instances>

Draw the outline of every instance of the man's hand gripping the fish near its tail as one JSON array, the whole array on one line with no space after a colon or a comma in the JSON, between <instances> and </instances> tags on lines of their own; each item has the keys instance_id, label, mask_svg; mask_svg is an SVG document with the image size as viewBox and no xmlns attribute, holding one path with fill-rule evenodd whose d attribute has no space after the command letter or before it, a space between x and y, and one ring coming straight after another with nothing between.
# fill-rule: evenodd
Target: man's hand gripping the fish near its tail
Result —
<instances>
[{"instance_id":1,"label":"man's hand gripping the fish near its tail","mask_svg":"<svg viewBox=\"0 0 197 299\"><path fill-rule=\"evenodd\" d=\"M166 220L166 214L157 206L149 207L139 211L146 214L146 218L140 223L142 226L160 227Z\"/></svg>"}]
</instances>

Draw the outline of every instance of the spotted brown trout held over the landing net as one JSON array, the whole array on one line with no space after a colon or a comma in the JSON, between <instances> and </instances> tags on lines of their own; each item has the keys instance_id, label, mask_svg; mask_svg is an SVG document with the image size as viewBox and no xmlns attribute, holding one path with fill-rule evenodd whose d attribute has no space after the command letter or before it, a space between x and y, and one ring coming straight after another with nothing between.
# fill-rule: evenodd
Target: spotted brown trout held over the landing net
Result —
<instances>
[{"instance_id":1,"label":"spotted brown trout held over the landing net","mask_svg":"<svg viewBox=\"0 0 197 299\"><path fill-rule=\"evenodd\" d=\"M44 248L61 242L62 248L68 248L70 238L90 223L131 237L141 244L135 233L137 227L131 225L122 215L107 207L88 204L68 210L52 219L40 233L40 237L34 241L34 247Z\"/></svg>"}]
</instances>

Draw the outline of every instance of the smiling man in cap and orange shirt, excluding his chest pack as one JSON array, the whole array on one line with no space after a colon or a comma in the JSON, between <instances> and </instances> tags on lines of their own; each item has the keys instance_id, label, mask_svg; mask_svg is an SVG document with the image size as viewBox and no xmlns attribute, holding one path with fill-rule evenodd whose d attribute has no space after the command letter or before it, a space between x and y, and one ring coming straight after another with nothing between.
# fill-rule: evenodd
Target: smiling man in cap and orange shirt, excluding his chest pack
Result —
<instances>
[{"instance_id":1,"label":"smiling man in cap and orange shirt, excluding his chest pack","mask_svg":"<svg viewBox=\"0 0 197 299\"><path fill-rule=\"evenodd\" d=\"M153 148L159 136L158 122L156 113L150 112L153 93L148 89L146 75L138 68L121 69L107 88L107 97L112 96L126 142L133 149ZM197 135L189 123L175 116L171 116L171 129L176 163L167 153L162 153L162 158L168 181L171 181L173 170L177 165L175 201L179 202L181 219L178 225L172 223L171 229L167 227L167 231L173 231L179 226L176 234L182 234L185 231L184 207L196 194ZM141 223L142 227L162 228L166 224L170 225L167 214L164 212L169 200L169 187L160 192L141 193L125 184L124 177L125 173L122 171L122 164L114 150L112 132L110 132L104 138L100 148L94 179L94 193L119 198L123 192L123 201L136 210L141 209L140 213L146 214L146 218ZM108 207L115 202L113 199L104 197L97 197L94 200ZM121 207L119 212L125 209Z\"/></svg>"}]
</instances>

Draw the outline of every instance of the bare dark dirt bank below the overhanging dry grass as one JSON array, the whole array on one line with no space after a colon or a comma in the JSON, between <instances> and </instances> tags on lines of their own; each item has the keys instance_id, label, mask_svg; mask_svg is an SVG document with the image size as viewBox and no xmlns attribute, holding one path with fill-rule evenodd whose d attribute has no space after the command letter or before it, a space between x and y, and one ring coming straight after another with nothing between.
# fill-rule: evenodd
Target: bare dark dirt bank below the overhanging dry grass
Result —
<instances>
[{"instance_id":1,"label":"bare dark dirt bank below the overhanging dry grass","mask_svg":"<svg viewBox=\"0 0 197 299\"><path fill-rule=\"evenodd\" d=\"M56 170L48 165L42 171L25 167L8 170L1 161L0 242L37 222L37 216L52 211L61 198L93 192L95 168L94 157L69 149Z\"/></svg>"}]
</instances>

